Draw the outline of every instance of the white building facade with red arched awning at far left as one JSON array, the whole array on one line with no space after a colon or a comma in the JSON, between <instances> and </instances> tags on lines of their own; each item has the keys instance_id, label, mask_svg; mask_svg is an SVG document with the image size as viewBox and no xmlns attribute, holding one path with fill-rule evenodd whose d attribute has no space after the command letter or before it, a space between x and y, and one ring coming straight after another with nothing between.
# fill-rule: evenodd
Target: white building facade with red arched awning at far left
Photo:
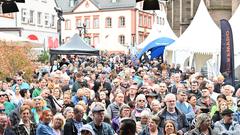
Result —
<instances>
[{"instance_id":1,"label":"white building facade with red arched awning at far left","mask_svg":"<svg viewBox=\"0 0 240 135\"><path fill-rule=\"evenodd\" d=\"M57 12L54 0L25 0L19 12L0 15L0 31L11 33L44 47L58 47Z\"/></svg>"}]
</instances>

